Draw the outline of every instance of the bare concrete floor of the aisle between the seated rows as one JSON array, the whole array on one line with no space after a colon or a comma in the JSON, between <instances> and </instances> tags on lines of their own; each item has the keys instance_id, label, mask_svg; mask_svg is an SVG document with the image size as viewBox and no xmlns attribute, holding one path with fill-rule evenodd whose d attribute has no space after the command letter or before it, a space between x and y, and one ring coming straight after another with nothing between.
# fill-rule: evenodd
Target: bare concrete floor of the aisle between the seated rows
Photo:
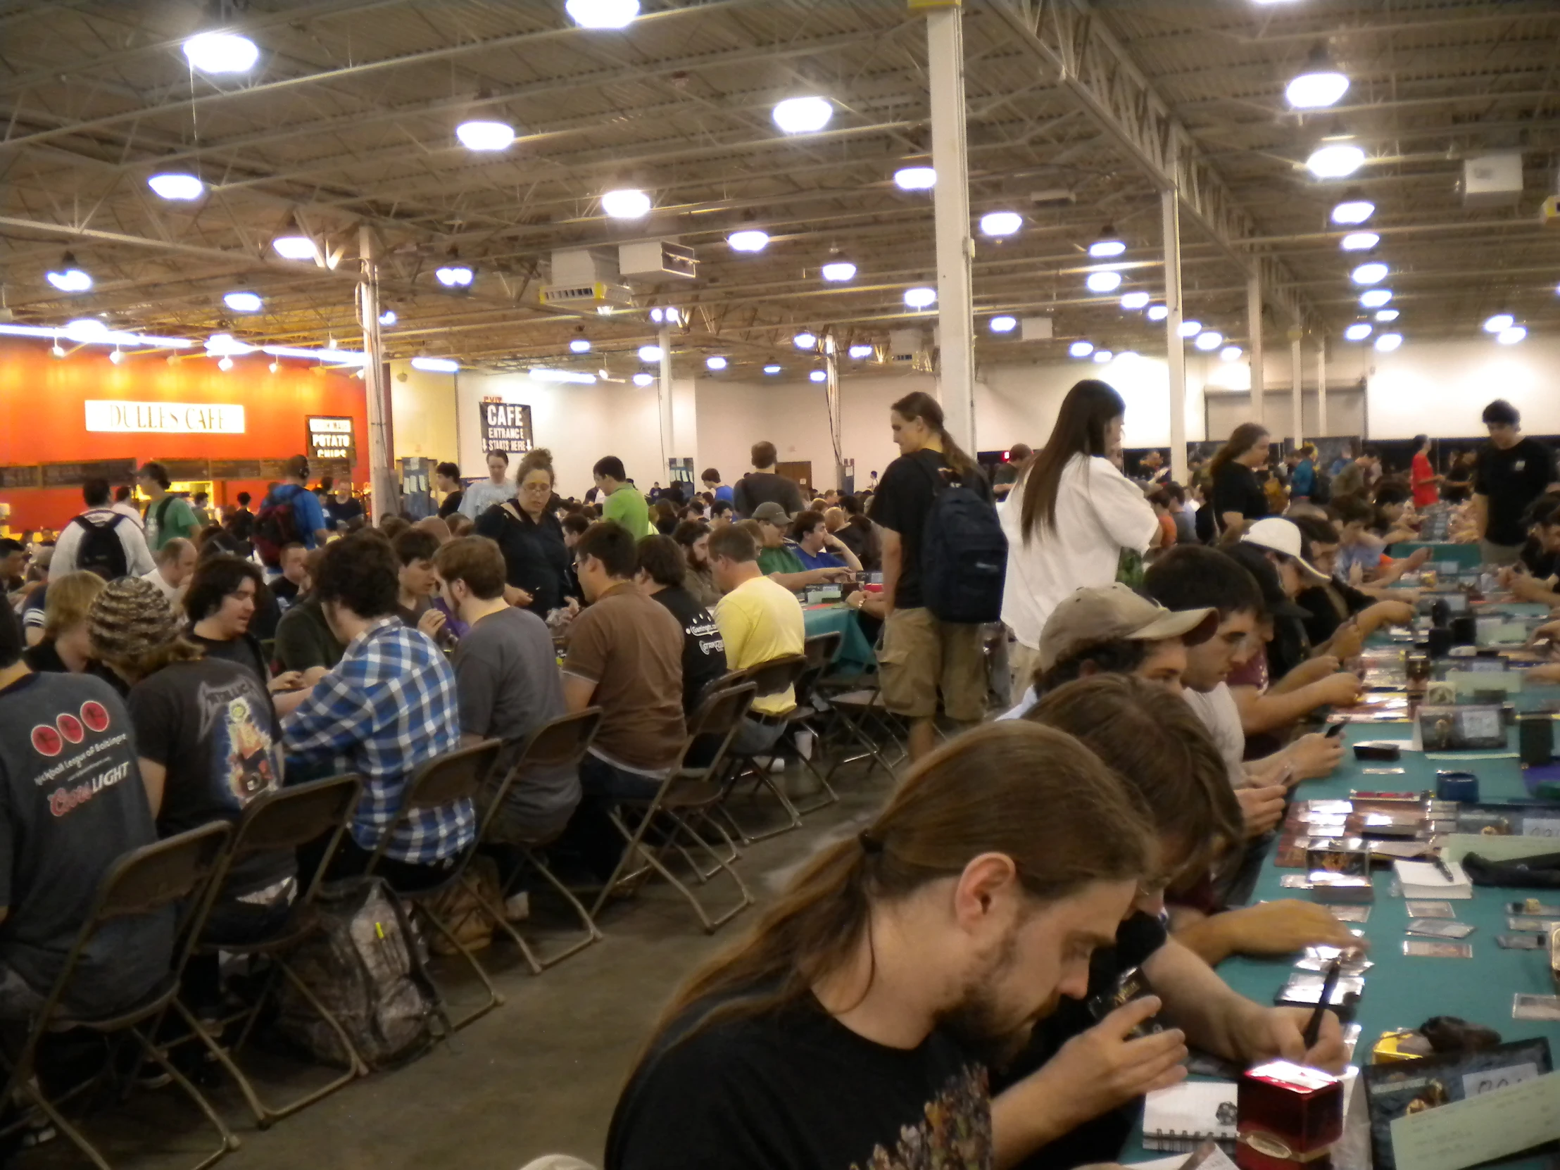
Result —
<instances>
[{"instance_id":1,"label":"bare concrete floor of the aisle between the seated rows","mask_svg":"<svg viewBox=\"0 0 1560 1170\"><path fill-rule=\"evenodd\" d=\"M243 1143L222 1165L518 1170L546 1153L601 1165L618 1090L661 1006L697 963L752 925L802 861L864 827L889 782L881 771L867 780L860 772L860 766L841 769L841 802L810 814L803 830L744 850L738 867L758 906L714 936L668 886L651 885L607 908L604 942L540 977L516 966L507 942L484 952L507 1002L404 1069L356 1081L268 1131L254 1128L226 1086L211 1090ZM741 799L736 810L747 824L761 821L772 803L749 810ZM729 889L716 878L704 892L725 906L719 899ZM474 1003L468 991L456 986L452 1006ZM317 1076L298 1067L287 1075L293 1084ZM279 1084L285 1092L285 1081ZM87 1133L119 1170L183 1170L215 1148L215 1131L172 1087L133 1095ZM16 1162L19 1170L84 1164L64 1137Z\"/></svg>"}]
</instances>

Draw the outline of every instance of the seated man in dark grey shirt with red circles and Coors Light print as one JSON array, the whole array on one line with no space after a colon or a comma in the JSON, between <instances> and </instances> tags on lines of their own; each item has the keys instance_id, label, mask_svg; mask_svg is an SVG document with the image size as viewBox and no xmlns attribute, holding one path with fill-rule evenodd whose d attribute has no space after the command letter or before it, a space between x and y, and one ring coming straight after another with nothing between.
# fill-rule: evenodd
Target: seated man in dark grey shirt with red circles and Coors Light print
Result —
<instances>
[{"instance_id":1,"label":"seated man in dark grey shirt with red circles and Coors Light print","mask_svg":"<svg viewBox=\"0 0 1560 1170\"><path fill-rule=\"evenodd\" d=\"M136 772L129 713L101 679L33 674L0 605L0 1020L44 1006L125 853L158 839ZM120 919L78 959L66 1008L105 1019L158 986L173 955L172 906Z\"/></svg>"}]
</instances>

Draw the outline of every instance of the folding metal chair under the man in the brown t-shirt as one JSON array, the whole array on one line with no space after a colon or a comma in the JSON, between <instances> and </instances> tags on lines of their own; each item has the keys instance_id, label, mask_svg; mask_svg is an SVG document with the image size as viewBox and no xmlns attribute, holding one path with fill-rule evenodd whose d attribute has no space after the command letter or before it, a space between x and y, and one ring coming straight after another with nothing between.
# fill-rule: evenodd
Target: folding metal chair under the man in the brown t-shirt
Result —
<instances>
[{"instance_id":1,"label":"folding metal chair under the man in the brown t-shirt","mask_svg":"<svg viewBox=\"0 0 1560 1170\"><path fill-rule=\"evenodd\" d=\"M711 934L719 927L747 909L747 906L753 905L753 895L747 891L741 875L732 867L727 858L722 858L714 847L705 841L704 836L700 836L700 833L694 828L694 822L697 821L714 828L725 839L725 844L735 852L730 836L716 821L710 817L710 811L716 808L725 796L725 785L721 777L727 769L732 738L736 735L736 729L741 725L743 716L747 714L747 707L752 704L755 693L757 686L746 682L708 696L699 705L699 710L694 713L690 724L688 741L683 744L682 758L686 764L686 760L696 746L707 747L710 741L714 741L718 749L713 758L710 758L710 761L704 766L680 766L674 769L671 775L661 782L661 786L649 800L619 800L618 807L610 811L608 817L622 836L626 847L622 850L622 856L618 858L618 866L613 869L612 877L607 878L607 883L601 888L596 905L591 906L593 916L601 914L601 908L619 886L626 888L647 870L654 870L666 878L666 881L671 883L679 894L682 894L688 905L693 906L694 914L699 916L699 922L704 925L705 931ZM624 821L624 810L630 810L640 816L640 821L633 828L630 828L627 821ZM658 844L647 846L644 842L644 835L657 821L661 822L666 836L663 836ZM682 836L686 836L693 846L708 853L716 863L716 870L725 872L730 875L732 881L736 883L741 900L718 917L710 917L704 903L699 902L688 886L677 880L677 875L672 874L661 860L663 855L672 849L680 849ZM643 858L643 866L636 866L633 870L629 870L629 866L635 863L636 856ZM697 875L697 880L704 883L705 878L699 874L697 866L694 866L694 874Z\"/></svg>"}]
</instances>

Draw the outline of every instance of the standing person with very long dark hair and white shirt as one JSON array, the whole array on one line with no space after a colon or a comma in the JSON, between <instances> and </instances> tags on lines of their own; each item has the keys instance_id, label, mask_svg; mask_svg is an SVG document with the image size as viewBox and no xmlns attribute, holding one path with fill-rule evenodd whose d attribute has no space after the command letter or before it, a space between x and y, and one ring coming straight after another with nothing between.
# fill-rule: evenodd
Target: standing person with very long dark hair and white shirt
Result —
<instances>
[{"instance_id":1,"label":"standing person with very long dark hair and white shirt","mask_svg":"<svg viewBox=\"0 0 1560 1170\"><path fill-rule=\"evenodd\" d=\"M1002 619L1019 644L1011 665L1022 694L1039 665L1041 630L1073 590L1115 580L1122 551L1148 551L1159 518L1112 462L1126 404L1084 379L1067 392L1050 441L998 509L1008 534Z\"/></svg>"}]
</instances>

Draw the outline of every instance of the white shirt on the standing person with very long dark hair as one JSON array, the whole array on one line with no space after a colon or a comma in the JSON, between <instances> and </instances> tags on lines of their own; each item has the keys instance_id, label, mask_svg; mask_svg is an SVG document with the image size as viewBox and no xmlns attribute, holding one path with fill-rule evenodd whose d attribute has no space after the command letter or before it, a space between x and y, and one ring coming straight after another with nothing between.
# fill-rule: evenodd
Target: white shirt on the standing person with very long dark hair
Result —
<instances>
[{"instance_id":1,"label":"white shirt on the standing person with very long dark hair","mask_svg":"<svg viewBox=\"0 0 1560 1170\"><path fill-rule=\"evenodd\" d=\"M1073 590L1115 580L1122 549L1145 552L1159 518L1142 487L1111 460L1073 456L1056 485L1056 527L1041 524L1025 541L1023 484L1020 479L998 509L1008 534L1002 619L1019 641L1039 649L1051 610Z\"/></svg>"}]
</instances>

